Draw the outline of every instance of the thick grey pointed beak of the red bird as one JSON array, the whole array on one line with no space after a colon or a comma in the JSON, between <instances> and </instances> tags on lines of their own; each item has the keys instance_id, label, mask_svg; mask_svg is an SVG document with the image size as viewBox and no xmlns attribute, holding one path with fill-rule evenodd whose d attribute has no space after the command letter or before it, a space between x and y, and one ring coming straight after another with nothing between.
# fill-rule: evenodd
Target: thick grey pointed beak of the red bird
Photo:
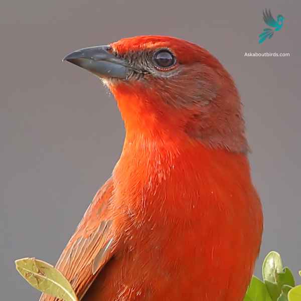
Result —
<instances>
[{"instance_id":1,"label":"thick grey pointed beak of the red bird","mask_svg":"<svg viewBox=\"0 0 301 301\"><path fill-rule=\"evenodd\" d=\"M126 79L129 66L125 60L109 53L110 46L95 46L76 50L63 61L82 67L99 77Z\"/></svg>"}]
</instances>

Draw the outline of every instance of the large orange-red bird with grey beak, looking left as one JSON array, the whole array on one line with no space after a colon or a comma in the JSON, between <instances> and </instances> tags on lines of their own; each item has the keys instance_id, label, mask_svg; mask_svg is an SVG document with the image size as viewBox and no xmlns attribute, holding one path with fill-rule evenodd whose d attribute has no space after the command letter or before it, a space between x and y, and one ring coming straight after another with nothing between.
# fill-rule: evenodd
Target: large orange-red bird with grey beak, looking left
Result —
<instances>
[{"instance_id":1,"label":"large orange-red bird with grey beak, looking left","mask_svg":"<svg viewBox=\"0 0 301 301\"><path fill-rule=\"evenodd\" d=\"M241 301L262 210L231 76L207 50L161 36L64 60L102 79L126 129L112 177L56 265L78 298Z\"/></svg>"}]
</instances>

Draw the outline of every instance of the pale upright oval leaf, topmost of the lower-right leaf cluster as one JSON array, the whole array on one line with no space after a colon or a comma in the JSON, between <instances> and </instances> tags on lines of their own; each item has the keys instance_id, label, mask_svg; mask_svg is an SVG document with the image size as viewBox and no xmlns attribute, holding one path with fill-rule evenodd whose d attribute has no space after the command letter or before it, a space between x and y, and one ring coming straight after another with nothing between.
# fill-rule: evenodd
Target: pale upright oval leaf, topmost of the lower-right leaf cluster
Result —
<instances>
[{"instance_id":1,"label":"pale upright oval leaf, topmost of the lower-right leaf cluster","mask_svg":"<svg viewBox=\"0 0 301 301\"><path fill-rule=\"evenodd\" d=\"M275 273L280 273L282 270L283 267L280 254L275 251L269 252L262 263L263 280L276 283Z\"/></svg>"}]
</instances>

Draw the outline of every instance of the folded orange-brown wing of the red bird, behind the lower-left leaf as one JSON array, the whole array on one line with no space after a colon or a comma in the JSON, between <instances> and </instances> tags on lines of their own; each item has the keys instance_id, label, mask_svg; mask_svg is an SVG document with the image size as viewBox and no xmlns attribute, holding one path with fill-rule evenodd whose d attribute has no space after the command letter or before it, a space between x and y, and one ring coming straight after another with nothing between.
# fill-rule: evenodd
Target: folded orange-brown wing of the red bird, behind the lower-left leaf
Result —
<instances>
[{"instance_id":1,"label":"folded orange-brown wing of the red bird, behind the lower-left leaf","mask_svg":"<svg viewBox=\"0 0 301 301\"><path fill-rule=\"evenodd\" d=\"M112 192L113 182L110 178L96 193L56 264L56 268L70 281L79 299L114 253L116 243L110 231L112 220L107 210ZM46 294L40 298L40 301L55 300L58 299Z\"/></svg>"}]
</instances>

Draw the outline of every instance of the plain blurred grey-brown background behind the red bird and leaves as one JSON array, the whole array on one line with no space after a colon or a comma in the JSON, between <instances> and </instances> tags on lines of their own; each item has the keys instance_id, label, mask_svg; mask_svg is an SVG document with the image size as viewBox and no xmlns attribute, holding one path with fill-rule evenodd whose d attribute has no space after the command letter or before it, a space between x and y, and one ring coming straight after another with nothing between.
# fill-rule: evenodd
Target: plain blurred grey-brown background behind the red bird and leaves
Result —
<instances>
[{"instance_id":1,"label":"plain blurred grey-brown background behind the red bird and leaves","mask_svg":"<svg viewBox=\"0 0 301 301\"><path fill-rule=\"evenodd\" d=\"M264 8L286 19L280 32L258 45ZM300 13L299 0L2 0L1 300L38 297L14 260L35 256L55 263L120 155L124 129L113 97L96 77L61 59L78 48L141 34L202 45L234 77L265 216L256 273L274 249L296 275L301 269ZM290 57L244 57L255 51Z\"/></svg>"}]
</instances>

